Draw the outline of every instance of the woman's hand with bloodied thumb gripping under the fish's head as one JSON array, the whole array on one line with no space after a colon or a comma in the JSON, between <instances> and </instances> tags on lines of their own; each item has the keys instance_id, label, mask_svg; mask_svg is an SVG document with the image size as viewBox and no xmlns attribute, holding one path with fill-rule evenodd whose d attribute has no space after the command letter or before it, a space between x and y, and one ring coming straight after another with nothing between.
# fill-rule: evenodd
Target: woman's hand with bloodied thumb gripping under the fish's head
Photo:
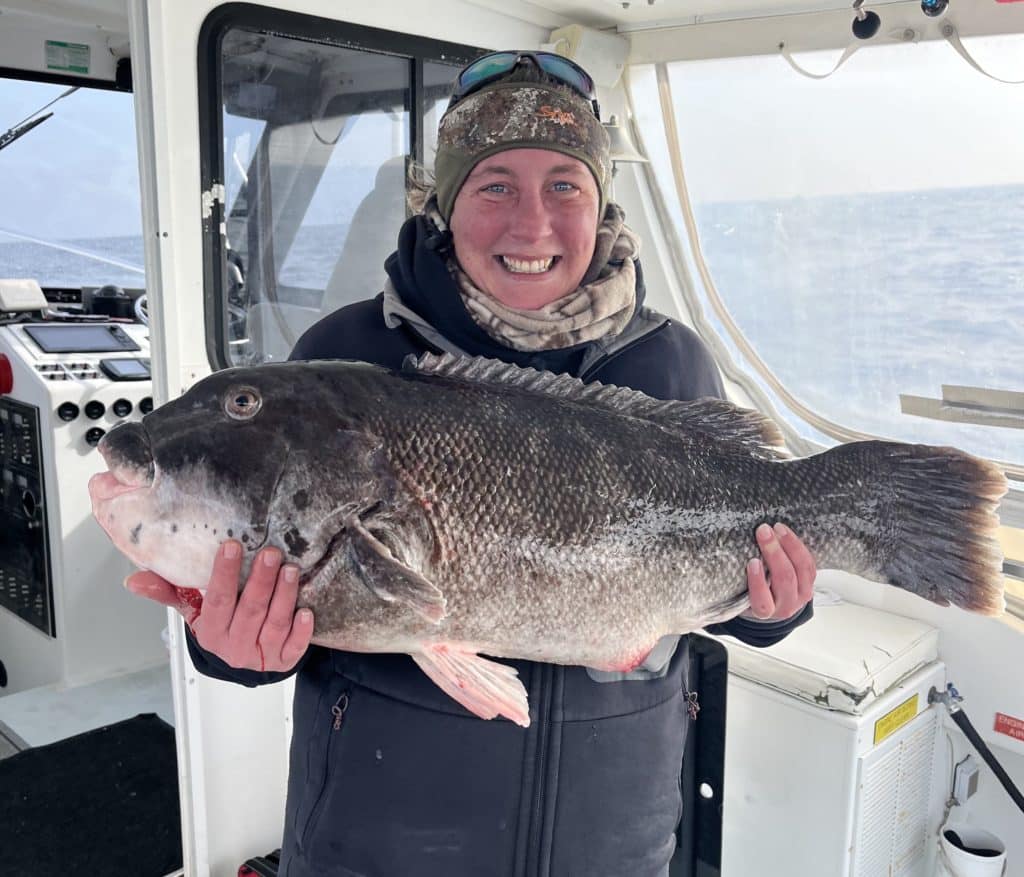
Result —
<instances>
[{"instance_id":1,"label":"woman's hand with bloodied thumb gripping under the fish's head","mask_svg":"<svg viewBox=\"0 0 1024 877\"><path fill-rule=\"evenodd\" d=\"M255 557L245 588L239 591L242 546L220 546L205 596L176 588L156 573L125 579L132 593L177 610L196 641L237 669L291 670L305 654L313 633L313 615L295 611L299 571L281 565L281 551L264 548Z\"/></svg>"}]
</instances>

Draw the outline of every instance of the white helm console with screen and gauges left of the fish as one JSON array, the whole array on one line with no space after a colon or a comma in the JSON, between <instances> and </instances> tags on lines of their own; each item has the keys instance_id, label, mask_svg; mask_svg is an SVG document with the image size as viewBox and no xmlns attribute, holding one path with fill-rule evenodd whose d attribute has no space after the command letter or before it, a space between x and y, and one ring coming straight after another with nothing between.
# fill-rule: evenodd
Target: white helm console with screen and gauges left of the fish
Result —
<instances>
[{"instance_id":1,"label":"white helm console with screen and gauges left of the fish","mask_svg":"<svg viewBox=\"0 0 1024 877\"><path fill-rule=\"evenodd\" d=\"M148 327L0 325L0 660L5 693L76 684L162 655L161 608L92 518L99 440L153 410Z\"/></svg>"}]
</instances>

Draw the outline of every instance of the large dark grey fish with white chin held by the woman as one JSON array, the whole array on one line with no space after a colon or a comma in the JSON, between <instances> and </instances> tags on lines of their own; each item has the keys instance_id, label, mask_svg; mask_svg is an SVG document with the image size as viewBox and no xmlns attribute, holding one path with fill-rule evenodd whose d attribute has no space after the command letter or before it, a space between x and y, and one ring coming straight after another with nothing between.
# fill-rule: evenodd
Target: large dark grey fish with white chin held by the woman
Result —
<instances>
[{"instance_id":1,"label":"large dark grey fish with white chin held by the woman","mask_svg":"<svg viewBox=\"0 0 1024 877\"><path fill-rule=\"evenodd\" d=\"M218 545L301 568L313 642L410 654L472 712L527 724L489 658L605 670L749 607L762 521L820 568L937 603L1004 608L992 464L864 442L786 459L761 415L490 360L401 371L286 363L218 372L99 445L89 489L115 545L183 588Z\"/></svg>"}]
</instances>

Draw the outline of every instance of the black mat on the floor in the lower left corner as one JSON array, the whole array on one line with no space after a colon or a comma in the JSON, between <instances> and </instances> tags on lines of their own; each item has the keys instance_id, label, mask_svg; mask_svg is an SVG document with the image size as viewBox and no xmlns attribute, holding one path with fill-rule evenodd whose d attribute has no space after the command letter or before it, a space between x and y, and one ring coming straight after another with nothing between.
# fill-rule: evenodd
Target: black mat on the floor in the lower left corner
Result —
<instances>
[{"instance_id":1,"label":"black mat on the floor in the lower left corner","mask_svg":"<svg viewBox=\"0 0 1024 877\"><path fill-rule=\"evenodd\" d=\"M4 877L181 868L174 729L154 713L0 761Z\"/></svg>"}]
</instances>

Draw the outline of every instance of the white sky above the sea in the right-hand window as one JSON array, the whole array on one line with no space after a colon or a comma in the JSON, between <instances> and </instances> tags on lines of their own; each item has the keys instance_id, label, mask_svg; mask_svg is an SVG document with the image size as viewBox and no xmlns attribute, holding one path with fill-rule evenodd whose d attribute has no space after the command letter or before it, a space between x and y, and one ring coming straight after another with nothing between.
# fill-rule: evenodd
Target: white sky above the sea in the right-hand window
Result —
<instances>
[{"instance_id":1,"label":"white sky above the sea in the right-hand window","mask_svg":"<svg viewBox=\"0 0 1024 877\"><path fill-rule=\"evenodd\" d=\"M965 39L1024 79L1024 36ZM815 73L840 51L804 53ZM660 123L652 67L632 72L641 130ZM1024 84L986 78L945 41L861 49L831 77L781 56L671 66L691 198L759 200L1024 183ZM646 139L665 165L664 139Z\"/></svg>"}]
</instances>

